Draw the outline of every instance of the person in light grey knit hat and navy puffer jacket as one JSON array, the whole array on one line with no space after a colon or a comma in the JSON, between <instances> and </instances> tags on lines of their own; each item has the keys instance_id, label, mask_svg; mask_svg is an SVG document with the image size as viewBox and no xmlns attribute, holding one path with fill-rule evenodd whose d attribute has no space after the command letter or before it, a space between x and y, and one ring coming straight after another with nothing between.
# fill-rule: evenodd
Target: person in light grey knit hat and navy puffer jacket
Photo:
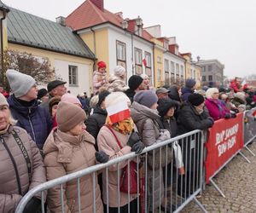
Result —
<instances>
[{"instance_id":1,"label":"person in light grey knit hat and navy puffer jacket","mask_svg":"<svg viewBox=\"0 0 256 213\"><path fill-rule=\"evenodd\" d=\"M13 95L9 96L9 109L17 120L16 125L25 129L36 142L39 149L51 130L52 121L49 111L38 105L38 89L36 81L29 75L8 70L6 77L9 81Z\"/></svg>"}]
</instances>

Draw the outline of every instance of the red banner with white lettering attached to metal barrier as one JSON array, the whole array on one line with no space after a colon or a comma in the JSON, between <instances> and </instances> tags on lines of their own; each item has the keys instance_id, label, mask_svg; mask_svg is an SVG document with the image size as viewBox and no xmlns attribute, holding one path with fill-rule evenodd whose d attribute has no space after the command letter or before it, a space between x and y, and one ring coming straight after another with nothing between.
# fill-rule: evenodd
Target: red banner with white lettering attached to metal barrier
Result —
<instances>
[{"instance_id":1,"label":"red banner with white lettering attached to metal barrier","mask_svg":"<svg viewBox=\"0 0 256 213\"><path fill-rule=\"evenodd\" d=\"M220 119L208 130L206 181L243 147L243 114L236 118Z\"/></svg>"}]
</instances>

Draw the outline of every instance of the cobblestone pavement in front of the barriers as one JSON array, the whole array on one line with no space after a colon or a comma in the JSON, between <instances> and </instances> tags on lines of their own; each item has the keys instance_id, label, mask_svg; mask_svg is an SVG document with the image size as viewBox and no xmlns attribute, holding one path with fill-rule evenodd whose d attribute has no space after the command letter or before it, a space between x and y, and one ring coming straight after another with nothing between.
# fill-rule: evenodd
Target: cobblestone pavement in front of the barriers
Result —
<instances>
[{"instance_id":1,"label":"cobblestone pavement in front of the barriers","mask_svg":"<svg viewBox=\"0 0 256 213\"><path fill-rule=\"evenodd\" d=\"M256 141L248 147L256 153ZM208 185L198 199L208 212L256 212L256 156L253 157L247 150L242 153L251 164L238 155L213 178L226 198ZM201 209L192 201L182 212L201 212Z\"/></svg>"}]
</instances>

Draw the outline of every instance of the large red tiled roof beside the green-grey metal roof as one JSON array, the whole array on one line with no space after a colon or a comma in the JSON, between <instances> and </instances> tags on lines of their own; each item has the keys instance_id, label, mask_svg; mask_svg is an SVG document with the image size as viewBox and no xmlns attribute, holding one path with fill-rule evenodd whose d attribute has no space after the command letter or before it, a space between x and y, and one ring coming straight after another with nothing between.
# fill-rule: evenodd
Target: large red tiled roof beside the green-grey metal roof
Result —
<instances>
[{"instance_id":1,"label":"large red tiled roof beside the green-grey metal roof","mask_svg":"<svg viewBox=\"0 0 256 213\"><path fill-rule=\"evenodd\" d=\"M108 21L114 25L122 26L123 19L118 14L113 14L107 9L101 10L90 0L86 0L72 14L67 16L66 25L77 31Z\"/></svg>"}]
</instances>

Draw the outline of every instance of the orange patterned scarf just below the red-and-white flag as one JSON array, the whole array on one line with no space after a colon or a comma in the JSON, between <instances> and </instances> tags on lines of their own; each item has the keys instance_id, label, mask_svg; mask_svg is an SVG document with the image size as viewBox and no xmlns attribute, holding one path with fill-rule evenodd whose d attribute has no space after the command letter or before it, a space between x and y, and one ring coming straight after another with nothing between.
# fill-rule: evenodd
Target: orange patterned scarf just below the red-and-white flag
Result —
<instances>
[{"instance_id":1,"label":"orange patterned scarf just below the red-and-white flag","mask_svg":"<svg viewBox=\"0 0 256 213\"><path fill-rule=\"evenodd\" d=\"M106 124L113 128L113 130L117 130L122 134L128 135L131 134L132 130L134 129L134 123L132 118L126 118L118 123L112 124L110 118L107 117Z\"/></svg>"}]
</instances>

